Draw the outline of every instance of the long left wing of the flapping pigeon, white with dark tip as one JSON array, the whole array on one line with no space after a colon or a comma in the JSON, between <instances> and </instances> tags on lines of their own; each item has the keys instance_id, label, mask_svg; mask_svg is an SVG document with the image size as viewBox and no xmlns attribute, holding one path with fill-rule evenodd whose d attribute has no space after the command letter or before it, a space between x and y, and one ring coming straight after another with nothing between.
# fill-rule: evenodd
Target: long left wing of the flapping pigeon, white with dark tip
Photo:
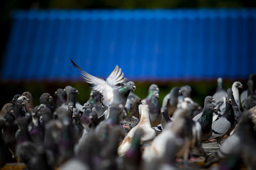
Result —
<instances>
[{"instance_id":1,"label":"long left wing of the flapping pigeon, white with dark tip","mask_svg":"<svg viewBox=\"0 0 256 170\"><path fill-rule=\"evenodd\" d=\"M105 106L109 106L109 104L111 104L113 101L113 96L114 96L113 87L111 87L111 85L109 85L109 83L106 82L105 80L103 80L102 78L97 78L97 77L83 71L83 69L81 69L81 67L77 66L77 64L73 60L71 60L71 62L73 64L73 66L76 67L76 69L78 69L78 71L80 72L80 74L84 78L84 80L90 84L90 87L93 90L97 90L98 92L100 92L100 94L102 94L102 96L103 96L102 103Z\"/></svg>"}]
</instances>

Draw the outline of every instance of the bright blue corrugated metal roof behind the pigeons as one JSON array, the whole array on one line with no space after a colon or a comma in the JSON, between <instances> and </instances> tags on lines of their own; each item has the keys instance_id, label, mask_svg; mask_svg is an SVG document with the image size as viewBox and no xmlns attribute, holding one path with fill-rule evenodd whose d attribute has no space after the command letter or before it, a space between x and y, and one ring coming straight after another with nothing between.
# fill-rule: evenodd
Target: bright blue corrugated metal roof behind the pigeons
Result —
<instances>
[{"instance_id":1,"label":"bright blue corrugated metal roof behind the pigeons","mask_svg":"<svg viewBox=\"0 0 256 170\"><path fill-rule=\"evenodd\" d=\"M73 59L106 77L247 78L256 73L256 10L14 11L2 80L77 80Z\"/></svg>"}]
</instances>

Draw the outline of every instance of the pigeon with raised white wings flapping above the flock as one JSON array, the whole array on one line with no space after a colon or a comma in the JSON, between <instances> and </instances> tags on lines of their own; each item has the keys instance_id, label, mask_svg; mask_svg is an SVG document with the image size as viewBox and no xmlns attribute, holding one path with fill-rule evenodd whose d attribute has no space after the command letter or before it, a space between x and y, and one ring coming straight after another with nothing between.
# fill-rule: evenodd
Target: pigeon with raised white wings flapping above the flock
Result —
<instances>
[{"instance_id":1,"label":"pigeon with raised white wings flapping above the flock","mask_svg":"<svg viewBox=\"0 0 256 170\"><path fill-rule=\"evenodd\" d=\"M135 91L136 87L134 85L134 82L132 81L124 83L123 86L117 86L124 82L124 73L121 74L121 69L118 69L118 66L115 67L113 72L108 76L105 81L101 78L97 78L95 76L92 76L91 74L86 73L72 60L71 62L74 67L76 67L80 71L84 80L90 84L90 87L93 90L97 90L100 92L100 94L102 94L102 103L105 106L109 107L112 103L118 103L122 104L122 110L124 110L124 106L126 104L130 91ZM108 115L106 117L108 117Z\"/></svg>"}]
</instances>

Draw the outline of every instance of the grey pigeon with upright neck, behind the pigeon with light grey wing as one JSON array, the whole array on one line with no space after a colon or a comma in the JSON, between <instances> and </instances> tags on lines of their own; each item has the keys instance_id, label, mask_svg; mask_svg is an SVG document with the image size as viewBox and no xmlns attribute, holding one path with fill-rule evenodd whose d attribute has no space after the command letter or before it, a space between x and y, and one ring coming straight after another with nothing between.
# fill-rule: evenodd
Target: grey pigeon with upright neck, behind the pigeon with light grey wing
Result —
<instances>
[{"instance_id":1,"label":"grey pigeon with upright neck, behind the pigeon with light grey wing","mask_svg":"<svg viewBox=\"0 0 256 170\"><path fill-rule=\"evenodd\" d=\"M226 90L224 90L222 87L222 83L223 83L222 78L218 78L217 81L218 81L218 87L212 97L216 101L216 108L218 109L218 111L223 113L223 111L225 110L225 97L227 97L228 94Z\"/></svg>"}]
</instances>

